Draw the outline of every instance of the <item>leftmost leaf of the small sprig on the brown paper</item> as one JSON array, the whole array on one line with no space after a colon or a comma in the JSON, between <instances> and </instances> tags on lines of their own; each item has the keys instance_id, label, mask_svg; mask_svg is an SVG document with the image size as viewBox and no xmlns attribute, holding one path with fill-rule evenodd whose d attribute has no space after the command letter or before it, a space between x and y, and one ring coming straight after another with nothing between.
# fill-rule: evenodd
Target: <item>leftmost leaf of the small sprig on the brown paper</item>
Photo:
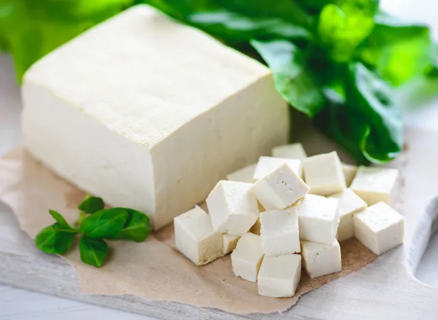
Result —
<instances>
[{"instance_id":1,"label":"leftmost leaf of the small sprig on the brown paper","mask_svg":"<svg viewBox=\"0 0 438 320\"><path fill-rule=\"evenodd\" d=\"M75 232L64 232L58 229L59 224L47 226L35 237L36 246L48 254L64 254L70 249L75 239Z\"/></svg>"}]
</instances>

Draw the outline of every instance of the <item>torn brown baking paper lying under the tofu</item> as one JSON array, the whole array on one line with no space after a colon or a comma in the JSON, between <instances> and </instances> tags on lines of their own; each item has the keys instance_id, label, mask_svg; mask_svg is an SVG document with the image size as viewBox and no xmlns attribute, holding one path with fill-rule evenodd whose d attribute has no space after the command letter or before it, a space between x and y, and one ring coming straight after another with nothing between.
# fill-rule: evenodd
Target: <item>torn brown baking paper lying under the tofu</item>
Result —
<instances>
[{"instance_id":1,"label":"torn brown baking paper lying under the tofu","mask_svg":"<svg viewBox=\"0 0 438 320\"><path fill-rule=\"evenodd\" d=\"M44 167L23 147L14 148L0 160L0 200L12 208L31 238L53 224L48 209L60 211L68 222L74 222L84 196L84 191ZM287 310L300 295L357 271L376 258L351 239L341 245L342 271L315 279L303 273L294 297L272 298L258 295L257 284L235 277L230 256L203 267L194 266L175 250L172 226L143 243L111 241L110 258L100 269L81 263L78 246L74 247L64 258L75 268L83 293L129 294L237 314Z\"/></svg>"}]
</instances>

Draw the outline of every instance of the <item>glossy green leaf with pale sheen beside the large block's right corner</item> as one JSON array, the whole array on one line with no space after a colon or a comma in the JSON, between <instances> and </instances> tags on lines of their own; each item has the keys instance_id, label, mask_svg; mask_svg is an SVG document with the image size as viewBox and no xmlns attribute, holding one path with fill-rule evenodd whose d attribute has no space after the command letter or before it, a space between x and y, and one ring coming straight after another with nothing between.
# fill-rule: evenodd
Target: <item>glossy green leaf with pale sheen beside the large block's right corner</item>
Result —
<instances>
[{"instance_id":1,"label":"glossy green leaf with pale sheen beside the large block's right corner","mask_svg":"<svg viewBox=\"0 0 438 320\"><path fill-rule=\"evenodd\" d=\"M287 40L252 40L251 45L271 68L276 90L285 101L309 117L318 114L324 107L324 94L300 49Z\"/></svg>"}]
</instances>

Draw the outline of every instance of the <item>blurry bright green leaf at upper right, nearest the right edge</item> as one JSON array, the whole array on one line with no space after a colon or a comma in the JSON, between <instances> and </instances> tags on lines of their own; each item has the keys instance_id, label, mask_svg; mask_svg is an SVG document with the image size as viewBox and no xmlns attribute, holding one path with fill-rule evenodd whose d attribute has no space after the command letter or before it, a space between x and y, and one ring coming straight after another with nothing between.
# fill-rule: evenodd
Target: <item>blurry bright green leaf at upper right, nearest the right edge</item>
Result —
<instances>
[{"instance_id":1,"label":"blurry bright green leaf at upper right, nearest the right edge","mask_svg":"<svg viewBox=\"0 0 438 320\"><path fill-rule=\"evenodd\" d=\"M356 55L391 85L402 85L433 66L432 52L427 25L379 14L376 27Z\"/></svg>"}]
</instances>

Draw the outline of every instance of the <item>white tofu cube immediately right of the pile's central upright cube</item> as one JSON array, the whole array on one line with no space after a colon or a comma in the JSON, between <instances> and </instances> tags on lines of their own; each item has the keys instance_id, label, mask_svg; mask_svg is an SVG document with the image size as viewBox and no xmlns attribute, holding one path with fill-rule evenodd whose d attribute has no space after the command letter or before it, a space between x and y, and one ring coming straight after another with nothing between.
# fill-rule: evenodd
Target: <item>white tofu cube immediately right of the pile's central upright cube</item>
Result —
<instances>
[{"instance_id":1,"label":"white tofu cube immediately right of the pile's central upright cube","mask_svg":"<svg viewBox=\"0 0 438 320\"><path fill-rule=\"evenodd\" d=\"M300 239L331 245L339 225L339 199L308 194L298 210Z\"/></svg>"}]
</instances>

